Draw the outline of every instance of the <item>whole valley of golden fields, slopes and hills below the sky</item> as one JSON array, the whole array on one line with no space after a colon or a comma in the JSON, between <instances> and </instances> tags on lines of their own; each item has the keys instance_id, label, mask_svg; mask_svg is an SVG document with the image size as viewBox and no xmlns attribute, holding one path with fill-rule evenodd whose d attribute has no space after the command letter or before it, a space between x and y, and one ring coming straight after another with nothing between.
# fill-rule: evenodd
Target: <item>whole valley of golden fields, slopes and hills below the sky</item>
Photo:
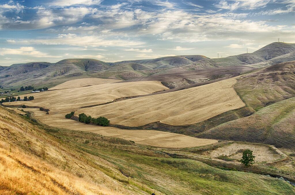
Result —
<instances>
[{"instance_id":1,"label":"whole valley of golden fields, slopes and hills below the sky","mask_svg":"<svg viewBox=\"0 0 295 195\"><path fill-rule=\"evenodd\" d=\"M15 92L34 100L0 106L0 192L294 194L294 45L217 59L66 59L4 68L5 89L49 89ZM110 124L81 123L81 113ZM240 162L246 149L253 165Z\"/></svg>"}]
</instances>

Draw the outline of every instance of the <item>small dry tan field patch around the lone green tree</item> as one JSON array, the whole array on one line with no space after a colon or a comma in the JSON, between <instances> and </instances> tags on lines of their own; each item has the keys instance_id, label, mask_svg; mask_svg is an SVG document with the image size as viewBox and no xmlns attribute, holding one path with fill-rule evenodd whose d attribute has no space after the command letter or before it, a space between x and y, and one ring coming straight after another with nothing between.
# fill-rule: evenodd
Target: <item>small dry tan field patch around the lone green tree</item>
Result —
<instances>
[{"instance_id":1,"label":"small dry tan field patch around the lone green tree","mask_svg":"<svg viewBox=\"0 0 295 195\"><path fill-rule=\"evenodd\" d=\"M250 149L253 151L255 163L272 162L286 156L273 146L249 143L232 143L230 145L205 152L204 154L206 156L210 156L211 158L217 158L218 156L224 155L237 161L242 158L242 152L245 149Z\"/></svg>"}]
</instances>

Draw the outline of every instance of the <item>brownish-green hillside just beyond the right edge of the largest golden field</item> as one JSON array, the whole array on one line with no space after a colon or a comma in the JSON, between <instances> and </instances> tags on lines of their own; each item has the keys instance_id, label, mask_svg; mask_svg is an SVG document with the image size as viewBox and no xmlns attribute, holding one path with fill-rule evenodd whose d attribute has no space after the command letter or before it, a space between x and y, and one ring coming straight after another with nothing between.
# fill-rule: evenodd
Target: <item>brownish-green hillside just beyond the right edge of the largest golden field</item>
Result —
<instances>
[{"instance_id":1,"label":"brownish-green hillside just beyond the right edge of the largest golden field","mask_svg":"<svg viewBox=\"0 0 295 195\"><path fill-rule=\"evenodd\" d=\"M234 85L245 103L255 110L295 96L295 61L242 75Z\"/></svg>"}]
</instances>

